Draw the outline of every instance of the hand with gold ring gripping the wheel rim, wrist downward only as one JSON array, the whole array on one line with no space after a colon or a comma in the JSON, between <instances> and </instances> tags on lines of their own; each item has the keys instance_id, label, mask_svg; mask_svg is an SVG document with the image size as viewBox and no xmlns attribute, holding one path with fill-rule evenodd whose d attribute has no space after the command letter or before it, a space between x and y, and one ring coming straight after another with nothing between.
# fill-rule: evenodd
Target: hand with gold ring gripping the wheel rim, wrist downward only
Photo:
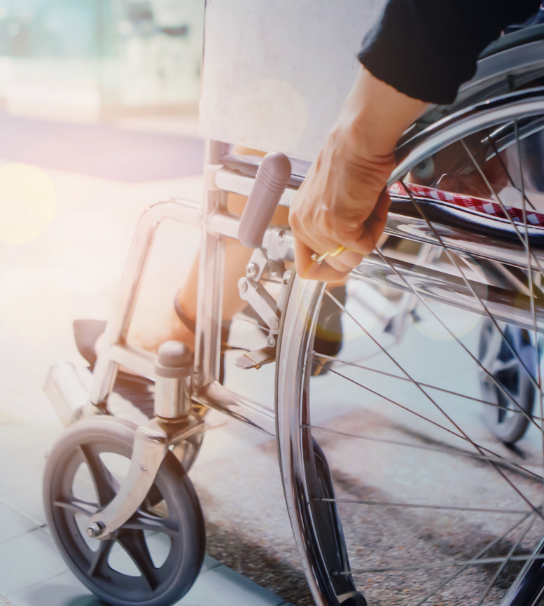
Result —
<instances>
[{"instance_id":1,"label":"hand with gold ring gripping the wheel rim, wrist downward only","mask_svg":"<svg viewBox=\"0 0 544 606\"><path fill-rule=\"evenodd\" d=\"M374 249L389 209L385 191L394 156L356 156L346 135L333 130L300 186L289 211L297 273L310 280L342 280ZM370 156L370 154L369 154ZM312 261L314 253L345 250Z\"/></svg>"}]
</instances>

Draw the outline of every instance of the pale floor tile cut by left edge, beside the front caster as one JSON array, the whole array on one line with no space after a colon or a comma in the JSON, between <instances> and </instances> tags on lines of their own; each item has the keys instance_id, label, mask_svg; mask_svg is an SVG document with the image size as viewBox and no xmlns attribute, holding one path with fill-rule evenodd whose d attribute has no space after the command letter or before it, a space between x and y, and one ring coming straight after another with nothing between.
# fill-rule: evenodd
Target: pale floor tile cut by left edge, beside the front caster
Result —
<instances>
[{"instance_id":1,"label":"pale floor tile cut by left edge, beside the front caster","mask_svg":"<svg viewBox=\"0 0 544 606\"><path fill-rule=\"evenodd\" d=\"M0 592L8 597L64 570L53 538L41 528L0 544Z\"/></svg>"}]
</instances>

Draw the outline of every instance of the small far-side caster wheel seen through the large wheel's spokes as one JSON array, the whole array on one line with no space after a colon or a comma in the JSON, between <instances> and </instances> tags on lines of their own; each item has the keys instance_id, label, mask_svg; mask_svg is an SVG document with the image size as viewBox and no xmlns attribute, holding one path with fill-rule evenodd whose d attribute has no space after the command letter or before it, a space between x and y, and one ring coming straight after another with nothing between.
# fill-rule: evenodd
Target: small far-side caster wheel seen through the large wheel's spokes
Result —
<instances>
[{"instance_id":1,"label":"small far-side caster wheel seen through the large wheel's spokes","mask_svg":"<svg viewBox=\"0 0 544 606\"><path fill-rule=\"evenodd\" d=\"M501 329L504 338L489 318L482 322L478 359L489 374L480 371L480 386L482 399L496 404L484 404L487 426L513 444L524 436L533 413L535 388L527 371L536 377L536 351L526 329L503 323Z\"/></svg>"}]
</instances>

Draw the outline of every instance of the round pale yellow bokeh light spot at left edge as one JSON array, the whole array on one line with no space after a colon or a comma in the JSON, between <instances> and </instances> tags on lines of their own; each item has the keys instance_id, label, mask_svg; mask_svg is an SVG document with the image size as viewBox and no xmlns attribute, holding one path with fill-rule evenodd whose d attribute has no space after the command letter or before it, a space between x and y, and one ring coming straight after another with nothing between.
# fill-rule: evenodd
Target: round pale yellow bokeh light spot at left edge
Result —
<instances>
[{"instance_id":1,"label":"round pale yellow bokeh light spot at left edge","mask_svg":"<svg viewBox=\"0 0 544 606\"><path fill-rule=\"evenodd\" d=\"M43 170L27 164L0 168L0 240L24 244L53 221L57 193Z\"/></svg>"}]
</instances>

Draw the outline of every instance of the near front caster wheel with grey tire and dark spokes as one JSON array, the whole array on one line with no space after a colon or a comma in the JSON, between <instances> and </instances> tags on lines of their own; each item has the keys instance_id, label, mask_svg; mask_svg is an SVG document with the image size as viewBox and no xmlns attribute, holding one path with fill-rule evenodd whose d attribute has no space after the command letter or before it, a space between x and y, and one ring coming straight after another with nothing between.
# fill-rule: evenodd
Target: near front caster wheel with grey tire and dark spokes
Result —
<instances>
[{"instance_id":1,"label":"near front caster wheel with grey tire and dark spokes","mask_svg":"<svg viewBox=\"0 0 544 606\"><path fill-rule=\"evenodd\" d=\"M86 533L127 474L135 429L106 416L70 427L46 464L46 516L64 560L97 597L113 606L168 606L193 585L206 540L195 489L172 453L137 513L110 539Z\"/></svg>"}]
</instances>

